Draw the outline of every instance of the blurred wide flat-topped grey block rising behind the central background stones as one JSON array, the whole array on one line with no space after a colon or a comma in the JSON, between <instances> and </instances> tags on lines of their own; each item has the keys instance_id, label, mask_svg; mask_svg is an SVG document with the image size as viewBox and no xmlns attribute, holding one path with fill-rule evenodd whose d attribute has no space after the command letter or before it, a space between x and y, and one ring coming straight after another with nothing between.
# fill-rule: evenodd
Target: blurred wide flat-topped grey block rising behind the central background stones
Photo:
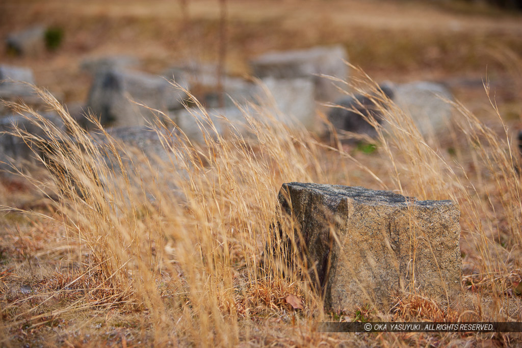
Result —
<instances>
[{"instance_id":1,"label":"blurred wide flat-topped grey block rising behind the central background stones","mask_svg":"<svg viewBox=\"0 0 522 348\"><path fill-rule=\"evenodd\" d=\"M312 49L270 52L255 58L251 62L253 75L279 79L312 78L317 101L333 102L339 98L338 82L317 76L328 75L345 80L348 67L345 49L338 46L313 47Z\"/></svg>"}]
</instances>

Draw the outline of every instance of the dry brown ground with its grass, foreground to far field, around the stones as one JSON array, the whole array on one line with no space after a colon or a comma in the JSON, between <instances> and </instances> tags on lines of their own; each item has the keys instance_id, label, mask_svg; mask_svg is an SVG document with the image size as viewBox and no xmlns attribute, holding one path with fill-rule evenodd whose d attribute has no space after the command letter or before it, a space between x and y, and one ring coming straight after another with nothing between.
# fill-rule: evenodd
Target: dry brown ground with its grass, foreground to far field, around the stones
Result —
<instances>
[{"instance_id":1,"label":"dry brown ground with its grass, foreground to far field, around the stones","mask_svg":"<svg viewBox=\"0 0 522 348\"><path fill-rule=\"evenodd\" d=\"M371 153L329 147L267 118L252 125L247 143L232 138L176 149L190 165L180 171L165 163L166 178L132 166L122 177L96 162L96 153L76 149L60 161L88 192L83 195L65 177L56 181L46 173L33 175L32 184L5 180L0 344L520 345L516 333L321 334L315 322L522 321L522 179L513 141L522 116L522 15L413 1L228 6L232 74L248 74L247 59L268 50L342 43L350 61L375 80L449 82L473 114L456 105L450 131L424 145L414 129L404 131L408 118L392 106L386 117L397 127ZM137 55L141 68L152 73L187 59L214 61L218 21L217 1L189 0L185 14L180 2L164 0L5 1L0 39L43 22L62 27L65 41L38 57L0 51L0 62L33 67L39 85L64 101L84 100L89 77L78 68L83 57ZM485 77L498 111L481 85ZM76 136L89 148L91 140L81 138L79 129ZM103 186L96 184L100 173L109 178ZM420 199L456 200L462 211L462 295L449 302L400 295L391 308L369 304L334 315L324 313L299 272L282 275L268 262L274 274L260 274L260 253L280 219L277 191L291 181L402 187ZM180 188L181 196L169 194L168 185ZM156 200L151 203L145 191ZM288 305L289 294L302 299L303 310Z\"/></svg>"}]
</instances>

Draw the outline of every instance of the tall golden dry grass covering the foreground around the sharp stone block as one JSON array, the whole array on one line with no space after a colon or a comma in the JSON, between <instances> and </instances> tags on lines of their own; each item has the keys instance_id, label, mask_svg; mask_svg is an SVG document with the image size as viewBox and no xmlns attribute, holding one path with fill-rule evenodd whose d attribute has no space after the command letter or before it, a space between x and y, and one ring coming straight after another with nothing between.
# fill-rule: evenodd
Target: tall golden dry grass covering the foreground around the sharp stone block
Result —
<instances>
[{"instance_id":1,"label":"tall golden dry grass covering the foreground around the sharp stone block","mask_svg":"<svg viewBox=\"0 0 522 348\"><path fill-rule=\"evenodd\" d=\"M33 188L18 190L43 197L37 208L2 198L9 211L0 236L2 345L519 344L519 334L316 332L322 320L522 319L521 164L494 102L504 133L454 103L450 131L425 139L371 79L360 76L354 89L373 90L376 105L387 105L381 106L385 127L369 120L379 133L377 151L369 155L341 143L325 145L264 114L245 115L248 136L220 136L208 118L201 123L201 145L158 122L152 128L168 154L158 162L101 126L106 141L100 145L44 91L40 97L67 130L11 103L43 130L44 137L18 135L46 143L41 162L52 175L23 175ZM277 249L281 243L274 226L287 224L276 197L282 183L293 181L458 202L461 296L411 291L397 295L390 308L369 303L349 313L324 313L299 267L280 267L287 255L263 256L266 245ZM304 308L293 309L288 295Z\"/></svg>"}]
</instances>

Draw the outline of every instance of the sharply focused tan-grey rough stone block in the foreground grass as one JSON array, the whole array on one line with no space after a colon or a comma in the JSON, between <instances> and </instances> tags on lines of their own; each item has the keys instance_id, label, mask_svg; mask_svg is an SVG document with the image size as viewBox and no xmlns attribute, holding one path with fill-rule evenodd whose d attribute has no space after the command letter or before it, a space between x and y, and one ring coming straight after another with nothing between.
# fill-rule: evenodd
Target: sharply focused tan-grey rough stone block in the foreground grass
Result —
<instances>
[{"instance_id":1,"label":"sharply focused tan-grey rough stone block in the foreground grass","mask_svg":"<svg viewBox=\"0 0 522 348\"><path fill-rule=\"evenodd\" d=\"M298 253L334 311L390 294L460 289L460 212L453 201L417 201L363 187L288 183L279 192Z\"/></svg>"}]
</instances>

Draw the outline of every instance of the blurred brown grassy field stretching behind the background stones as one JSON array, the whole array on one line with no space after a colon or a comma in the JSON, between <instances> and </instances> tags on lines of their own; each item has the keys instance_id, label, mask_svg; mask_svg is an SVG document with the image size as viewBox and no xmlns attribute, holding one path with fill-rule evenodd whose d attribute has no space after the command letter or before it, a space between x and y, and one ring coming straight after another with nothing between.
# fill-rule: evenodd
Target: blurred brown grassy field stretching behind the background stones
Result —
<instances>
[{"instance_id":1,"label":"blurred brown grassy field stretching behind the background stones","mask_svg":"<svg viewBox=\"0 0 522 348\"><path fill-rule=\"evenodd\" d=\"M342 44L350 63L375 80L499 81L513 99L522 51L520 14L484 3L454 1L227 1L227 62L232 75L267 51ZM2 62L29 65L39 85L64 101L85 99L89 56L128 54L159 74L177 62L216 62L219 1L5 1L0 32L34 24L60 28L60 48L38 57L0 51ZM499 91L499 92L500 92Z\"/></svg>"}]
</instances>

